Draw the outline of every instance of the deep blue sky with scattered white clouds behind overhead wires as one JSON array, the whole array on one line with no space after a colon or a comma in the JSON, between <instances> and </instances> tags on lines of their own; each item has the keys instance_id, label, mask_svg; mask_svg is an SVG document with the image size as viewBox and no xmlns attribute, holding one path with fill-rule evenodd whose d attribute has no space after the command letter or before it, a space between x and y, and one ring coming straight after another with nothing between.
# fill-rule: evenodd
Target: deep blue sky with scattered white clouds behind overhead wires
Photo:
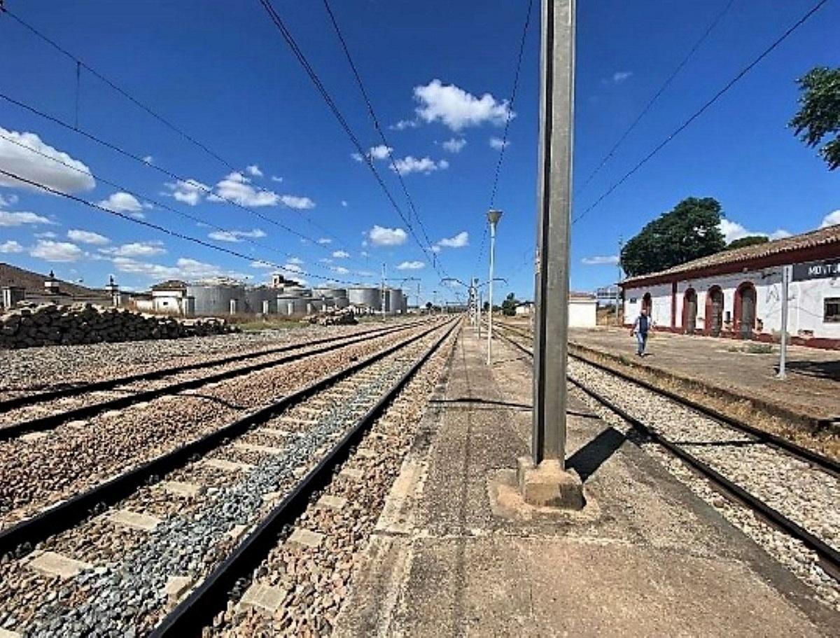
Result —
<instances>
[{"instance_id":1,"label":"deep blue sky with scattered white clouds behind overhead wires","mask_svg":"<svg viewBox=\"0 0 840 638\"><path fill-rule=\"evenodd\" d=\"M612 160L580 188L726 3L578 3L575 213L813 4L734 0ZM54 268L60 277L96 286L113 274L135 289L168 277L219 274L263 282L271 268L260 260L286 266L290 273L302 270L307 274L301 278L310 284L329 278L376 282L385 262L389 277L419 277L424 297L445 289L430 253L408 236L370 171L353 157L344 130L257 0L7 4L236 171L85 70L78 92L80 129L202 186L178 184L2 99L0 133L77 170L3 139L0 168L245 258L161 235L0 176L0 260L39 272ZM499 153L491 140L501 138L507 119L527 2L332 4L440 264L453 277L466 281L475 273L485 279L486 246L479 253ZM381 145L322 3L275 0L275 7L361 144ZM496 196L496 206L505 211L496 272L509 280L502 292L520 298L530 298L533 289L538 2L532 18ZM840 63L837 24L840 2L830 2L575 224L572 287L585 290L614 281L619 236L633 236L688 196L718 198L731 237L815 229L840 208L840 176L827 171L816 152L785 126L795 113L795 77L812 66ZM75 124L75 63L2 15L0 77L0 92ZM408 214L386 153L375 149L373 157ZM113 197L123 189L139 197Z\"/></svg>"}]
</instances>

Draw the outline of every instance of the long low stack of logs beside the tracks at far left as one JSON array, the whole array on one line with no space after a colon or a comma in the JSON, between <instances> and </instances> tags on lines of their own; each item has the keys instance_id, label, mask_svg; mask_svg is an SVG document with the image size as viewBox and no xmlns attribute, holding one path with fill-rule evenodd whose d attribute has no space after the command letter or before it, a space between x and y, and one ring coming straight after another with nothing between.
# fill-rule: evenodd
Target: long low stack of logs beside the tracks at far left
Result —
<instances>
[{"instance_id":1,"label":"long low stack of logs beside the tracks at far left","mask_svg":"<svg viewBox=\"0 0 840 638\"><path fill-rule=\"evenodd\" d=\"M224 319L176 319L90 303L72 306L45 303L0 314L0 348L179 339L235 331Z\"/></svg>"}]
</instances>

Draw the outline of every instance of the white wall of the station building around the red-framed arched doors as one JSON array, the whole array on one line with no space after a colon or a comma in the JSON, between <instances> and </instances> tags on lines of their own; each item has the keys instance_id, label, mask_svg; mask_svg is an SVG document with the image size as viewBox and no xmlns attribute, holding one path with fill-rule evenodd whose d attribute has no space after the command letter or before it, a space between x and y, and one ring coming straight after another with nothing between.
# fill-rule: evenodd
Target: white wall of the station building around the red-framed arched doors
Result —
<instances>
[{"instance_id":1,"label":"white wall of the station building around the red-framed arched doors","mask_svg":"<svg viewBox=\"0 0 840 638\"><path fill-rule=\"evenodd\" d=\"M781 330L781 278L781 268L774 267L677 282L675 327L685 330L682 324L683 303L685 291L692 287L697 293L696 330L703 330L706 320L706 294L712 286L719 286L723 292L723 330L732 330L738 287L744 282L751 282L755 287L756 317L760 322L760 330L755 332L778 335ZM840 278L790 282L788 292L788 334L840 339L840 323L823 321L825 299L840 297ZM652 297L654 325L660 328L668 327L671 316L670 283L625 289L625 321L631 323L638 316L645 293L650 293Z\"/></svg>"}]
</instances>

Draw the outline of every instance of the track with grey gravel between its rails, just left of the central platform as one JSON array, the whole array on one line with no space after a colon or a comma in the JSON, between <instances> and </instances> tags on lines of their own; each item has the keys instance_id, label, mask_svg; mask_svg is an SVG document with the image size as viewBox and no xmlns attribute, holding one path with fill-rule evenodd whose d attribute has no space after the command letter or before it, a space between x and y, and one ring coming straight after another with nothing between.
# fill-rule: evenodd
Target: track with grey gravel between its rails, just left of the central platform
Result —
<instances>
[{"instance_id":1,"label":"track with grey gravel between its rails, just left of the central platform","mask_svg":"<svg viewBox=\"0 0 840 638\"><path fill-rule=\"evenodd\" d=\"M3 628L196 634L457 324L433 324L102 484L56 509L51 526L3 532L4 549L39 543L0 565ZM108 508L89 514L100 502Z\"/></svg>"}]
</instances>

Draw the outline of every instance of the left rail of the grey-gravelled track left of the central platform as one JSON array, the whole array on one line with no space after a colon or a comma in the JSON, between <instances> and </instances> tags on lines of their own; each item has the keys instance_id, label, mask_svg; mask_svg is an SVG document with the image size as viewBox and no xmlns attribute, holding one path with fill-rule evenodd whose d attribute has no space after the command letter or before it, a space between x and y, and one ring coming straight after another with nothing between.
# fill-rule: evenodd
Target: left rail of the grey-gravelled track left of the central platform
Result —
<instances>
[{"instance_id":1,"label":"left rail of the grey-gravelled track left of the central platform","mask_svg":"<svg viewBox=\"0 0 840 638\"><path fill-rule=\"evenodd\" d=\"M86 519L88 515L95 513L102 505L113 504L121 498L129 496L136 488L143 485L151 477L162 476L166 472L171 472L186 461L189 461L192 456L204 454L225 440L243 434L256 424L263 423L275 414L288 409L296 403L300 403L312 393L320 392L324 388L328 388L345 377L349 377L349 375L359 372L366 366L370 366L376 361L380 361L382 358L402 349L406 345L422 339L425 335L428 335L434 330L438 330L441 325L435 323L427 330L423 330L419 335L414 335L396 345L389 346L385 350L377 352L375 355L369 356L362 361L357 361L352 366L348 366L339 372L335 372L328 377L324 377L308 385L306 388L297 390L294 393L277 399L269 405L245 414L244 417L223 425L207 435L203 435L196 440L177 447L175 450L156 456L150 461L145 461L138 467L127 470L117 477L113 477L82 493L78 493L76 496L55 504L29 519L24 519L16 525L12 525L5 530L0 530L0 556L3 556L7 552L18 551L18 553L25 553L31 550L32 547L42 540L70 529L73 525Z\"/></svg>"}]
</instances>

